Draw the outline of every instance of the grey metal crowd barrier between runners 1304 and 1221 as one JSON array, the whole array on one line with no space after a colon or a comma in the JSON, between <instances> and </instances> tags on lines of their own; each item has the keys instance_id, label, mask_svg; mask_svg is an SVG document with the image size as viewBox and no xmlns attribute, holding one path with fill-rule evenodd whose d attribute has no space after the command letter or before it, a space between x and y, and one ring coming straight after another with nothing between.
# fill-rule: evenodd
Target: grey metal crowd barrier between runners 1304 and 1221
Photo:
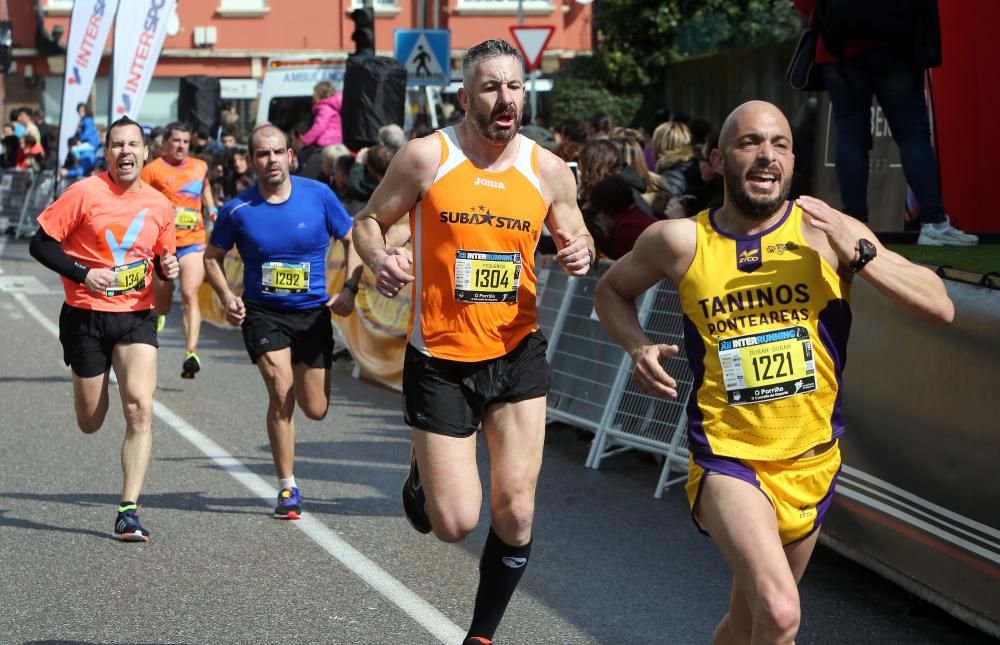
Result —
<instances>
[{"instance_id":1,"label":"grey metal crowd barrier between runners 1304 and 1221","mask_svg":"<svg viewBox=\"0 0 1000 645\"><path fill-rule=\"evenodd\" d=\"M683 353L667 364L678 380L674 401L651 397L632 385L632 359L604 331L594 312L594 288L611 266L569 277L551 257L538 266L538 322L549 341L552 389L548 418L594 433L587 466L600 468L606 457L641 450L663 458L655 496L686 478L687 415L691 370ZM636 303L639 321L651 340L683 345L680 303L668 281ZM675 476L671 478L671 474Z\"/></svg>"}]
</instances>

